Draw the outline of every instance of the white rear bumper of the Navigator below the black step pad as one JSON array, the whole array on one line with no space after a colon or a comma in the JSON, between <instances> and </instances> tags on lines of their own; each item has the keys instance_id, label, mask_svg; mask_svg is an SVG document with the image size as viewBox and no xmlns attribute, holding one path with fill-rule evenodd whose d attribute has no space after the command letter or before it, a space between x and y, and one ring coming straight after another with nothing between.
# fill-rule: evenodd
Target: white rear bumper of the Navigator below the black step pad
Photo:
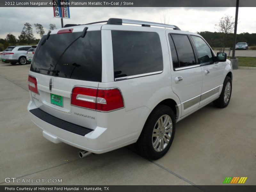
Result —
<instances>
[{"instance_id":1,"label":"white rear bumper of the Navigator below the black step pad","mask_svg":"<svg viewBox=\"0 0 256 192\"><path fill-rule=\"evenodd\" d=\"M36 105L30 101L28 104L30 118L33 123L43 130L43 136L47 140L50 140L53 143L64 142L68 145L96 154L105 153L135 143L140 134L140 132L136 132L113 140L109 137L109 135L113 136L116 134L113 129L97 126L94 130L83 136L54 126L53 124L42 120L42 117L39 118L38 116L35 116L30 110L36 108ZM124 127L120 128L122 129Z\"/></svg>"}]
</instances>

